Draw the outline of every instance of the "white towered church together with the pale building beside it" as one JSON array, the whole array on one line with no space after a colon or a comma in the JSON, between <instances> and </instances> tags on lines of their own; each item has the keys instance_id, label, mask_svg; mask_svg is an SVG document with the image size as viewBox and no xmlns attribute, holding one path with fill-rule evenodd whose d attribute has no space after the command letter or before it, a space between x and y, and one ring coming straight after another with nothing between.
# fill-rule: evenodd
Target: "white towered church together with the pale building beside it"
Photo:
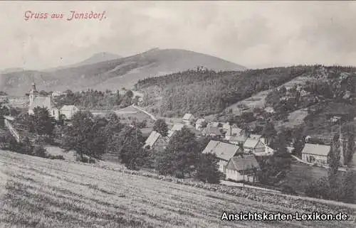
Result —
<instances>
[{"instance_id":1,"label":"white towered church together with the pale building beside it","mask_svg":"<svg viewBox=\"0 0 356 228\"><path fill-rule=\"evenodd\" d=\"M32 83L32 89L28 94L29 97L29 106L28 114L34 114L33 109L36 107L47 108L49 114L53 116L54 119L60 119L60 116L64 116L66 119L71 119L72 116L79 111L78 107L74 105L63 105L61 109L58 109L53 104L53 97L60 95L60 92L53 92L50 96L43 96L36 90L36 84Z\"/></svg>"}]
</instances>

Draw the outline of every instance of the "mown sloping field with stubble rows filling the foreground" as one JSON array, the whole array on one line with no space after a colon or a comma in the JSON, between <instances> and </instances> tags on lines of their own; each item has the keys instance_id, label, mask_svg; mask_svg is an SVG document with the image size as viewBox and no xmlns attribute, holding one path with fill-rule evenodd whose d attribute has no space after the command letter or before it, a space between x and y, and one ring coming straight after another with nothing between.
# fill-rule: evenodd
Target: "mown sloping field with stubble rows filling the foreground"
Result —
<instances>
[{"instance_id":1,"label":"mown sloping field with stubble rows filling the foreground","mask_svg":"<svg viewBox=\"0 0 356 228\"><path fill-rule=\"evenodd\" d=\"M221 221L222 212L303 212L97 165L0 151L0 227L355 227L355 221ZM335 208L335 211L339 210ZM355 216L355 208L350 209Z\"/></svg>"}]
</instances>

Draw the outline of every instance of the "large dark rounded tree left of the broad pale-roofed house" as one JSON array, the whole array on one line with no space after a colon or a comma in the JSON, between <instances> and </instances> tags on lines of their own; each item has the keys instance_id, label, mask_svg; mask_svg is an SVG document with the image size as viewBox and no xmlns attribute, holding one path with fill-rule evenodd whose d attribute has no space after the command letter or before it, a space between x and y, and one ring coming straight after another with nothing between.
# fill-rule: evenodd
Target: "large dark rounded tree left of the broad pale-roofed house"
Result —
<instances>
[{"instance_id":1,"label":"large dark rounded tree left of the broad pale-roofed house","mask_svg":"<svg viewBox=\"0 0 356 228\"><path fill-rule=\"evenodd\" d=\"M177 131L164 151L157 152L155 168L162 175L184 178L191 175L199 161L199 144L187 127Z\"/></svg>"}]
</instances>

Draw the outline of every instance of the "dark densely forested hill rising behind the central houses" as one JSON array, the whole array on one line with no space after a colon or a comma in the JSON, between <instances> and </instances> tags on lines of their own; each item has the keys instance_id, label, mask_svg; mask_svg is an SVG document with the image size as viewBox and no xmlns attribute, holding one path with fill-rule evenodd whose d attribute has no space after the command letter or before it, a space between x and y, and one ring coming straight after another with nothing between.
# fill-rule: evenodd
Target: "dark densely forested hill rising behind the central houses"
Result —
<instances>
[{"instance_id":1,"label":"dark densely forested hill rising behind the central houses","mask_svg":"<svg viewBox=\"0 0 356 228\"><path fill-rule=\"evenodd\" d=\"M312 74L316 67L299 65L243 72L216 72L198 67L140 80L135 89L144 92L145 106L157 107L164 116L182 116L187 112L209 115L257 92L283 85L303 74Z\"/></svg>"}]
</instances>

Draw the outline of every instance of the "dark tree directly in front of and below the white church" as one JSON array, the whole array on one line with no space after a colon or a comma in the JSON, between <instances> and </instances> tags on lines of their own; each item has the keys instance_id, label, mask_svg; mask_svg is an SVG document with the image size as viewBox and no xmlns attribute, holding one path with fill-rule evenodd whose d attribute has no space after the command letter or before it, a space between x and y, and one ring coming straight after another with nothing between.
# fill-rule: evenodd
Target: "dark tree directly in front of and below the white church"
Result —
<instances>
[{"instance_id":1,"label":"dark tree directly in front of and below the white church","mask_svg":"<svg viewBox=\"0 0 356 228\"><path fill-rule=\"evenodd\" d=\"M35 107L33 109L33 131L34 133L43 136L53 135L53 117L50 116L48 109Z\"/></svg>"}]
</instances>

